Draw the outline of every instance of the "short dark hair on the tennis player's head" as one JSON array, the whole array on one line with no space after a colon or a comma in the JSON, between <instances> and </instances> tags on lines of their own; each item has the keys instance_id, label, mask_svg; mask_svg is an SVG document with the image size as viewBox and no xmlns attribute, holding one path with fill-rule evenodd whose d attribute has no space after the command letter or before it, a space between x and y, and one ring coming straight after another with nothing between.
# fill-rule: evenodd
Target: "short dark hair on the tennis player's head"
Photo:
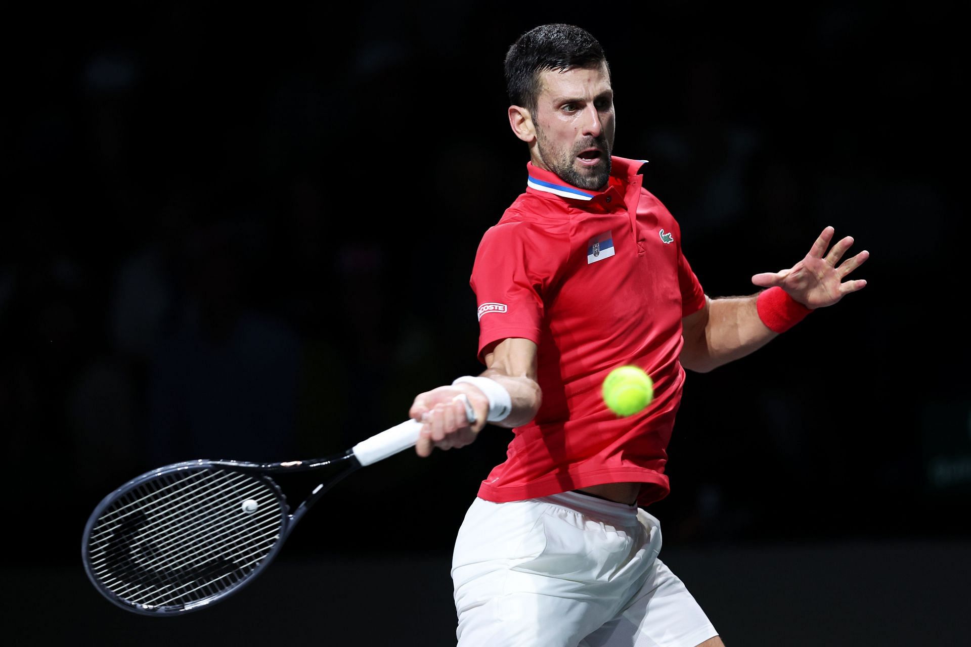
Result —
<instances>
[{"instance_id":1,"label":"short dark hair on the tennis player's head","mask_svg":"<svg viewBox=\"0 0 971 647\"><path fill-rule=\"evenodd\" d=\"M559 23L534 27L519 36L506 52L509 101L513 106L522 106L534 113L540 95L541 73L596 67L601 63L607 63L604 50L586 29Z\"/></svg>"}]
</instances>

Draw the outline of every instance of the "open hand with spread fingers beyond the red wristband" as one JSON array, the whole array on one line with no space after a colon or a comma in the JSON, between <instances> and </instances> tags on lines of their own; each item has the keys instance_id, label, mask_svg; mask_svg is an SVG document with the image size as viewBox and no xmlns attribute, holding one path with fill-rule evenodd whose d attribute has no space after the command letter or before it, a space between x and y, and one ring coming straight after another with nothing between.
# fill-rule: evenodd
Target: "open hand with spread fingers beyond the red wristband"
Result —
<instances>
[{"instance_id":1,"label":"open hand with spread fingers beyond the red wristband","mask_svg":"<svg viewBox=\"0 0 971 647\"><path fill-rule=\"evenodd\" d=\"M800 304L811 308L832 306L845 295L862 290L866 286L862 278L843 279L862 265L870 257L870 252L864 249L840 265L843 254L853 244L853 237L847 236L834 244L827 254L826 248L833 240L834 232L832 227L823 229L806 257L790 269L754 275L752 282L761 287L778 285Z\"/></svg>"}]
</instances>

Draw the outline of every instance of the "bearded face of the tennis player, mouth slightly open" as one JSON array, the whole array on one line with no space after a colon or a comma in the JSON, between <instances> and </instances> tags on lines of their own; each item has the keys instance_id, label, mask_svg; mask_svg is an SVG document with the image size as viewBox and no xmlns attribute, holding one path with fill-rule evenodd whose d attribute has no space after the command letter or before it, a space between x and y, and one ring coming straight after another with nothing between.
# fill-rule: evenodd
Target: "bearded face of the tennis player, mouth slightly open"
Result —
<instances>
[{"instance_id":1,"label":"bearded face of the tennis player, mouth slightly open","mask_svg":"<svg viewBox=\"0 0 971 647\"><path fill-rule=\"evenodd\" d=\"M614 148L614 91L607 65L540 74L533 124L547 170L583 189L610 178Z\"/></svg>"}]
</instances>

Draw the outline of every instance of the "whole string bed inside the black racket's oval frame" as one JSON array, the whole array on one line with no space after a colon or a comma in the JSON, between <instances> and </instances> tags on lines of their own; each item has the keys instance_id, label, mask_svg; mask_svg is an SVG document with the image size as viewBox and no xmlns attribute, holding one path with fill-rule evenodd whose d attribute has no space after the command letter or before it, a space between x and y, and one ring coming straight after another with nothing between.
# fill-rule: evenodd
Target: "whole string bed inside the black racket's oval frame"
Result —
<instances>
[{"instance_id":1,"label":"whole string bed inside the black racket's oval frame","mask_svg":"<svg viewBox=\"0 0 971 647\"><path fill-rule=\"evenodd\" d=\"M89 563L130 603L184 606L245 579L280 538L284 517L275 488L261 479L214 469L162 474L98 518Z\"/></svg>"}]
</instances>

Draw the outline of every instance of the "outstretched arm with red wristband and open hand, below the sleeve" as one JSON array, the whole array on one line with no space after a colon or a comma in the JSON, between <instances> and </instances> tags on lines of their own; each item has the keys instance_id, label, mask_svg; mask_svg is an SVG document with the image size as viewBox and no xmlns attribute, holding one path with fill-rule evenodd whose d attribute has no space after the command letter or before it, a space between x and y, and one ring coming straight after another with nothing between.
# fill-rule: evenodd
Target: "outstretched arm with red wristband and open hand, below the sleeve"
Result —
<instances>
[{"instance_id":1,"label":"outstretched arm with red wristband and open hand, below the sleeve","mask_svg":"<svg viewBox=\"0 0 971 647\"><path fill-rule=\"evenodd\" d=\"M812 310L863 289L865 280L844 279L869 258L869 252L863 250L841 264L854 241L848 236L826 253L833 233L832 227L822 230L806 257L788 270L752 277L755 285L768 289L749 297L706 298L704 307L682 321L682 365L708 372L745 357Z\"/></svg>"}]
</instances>

